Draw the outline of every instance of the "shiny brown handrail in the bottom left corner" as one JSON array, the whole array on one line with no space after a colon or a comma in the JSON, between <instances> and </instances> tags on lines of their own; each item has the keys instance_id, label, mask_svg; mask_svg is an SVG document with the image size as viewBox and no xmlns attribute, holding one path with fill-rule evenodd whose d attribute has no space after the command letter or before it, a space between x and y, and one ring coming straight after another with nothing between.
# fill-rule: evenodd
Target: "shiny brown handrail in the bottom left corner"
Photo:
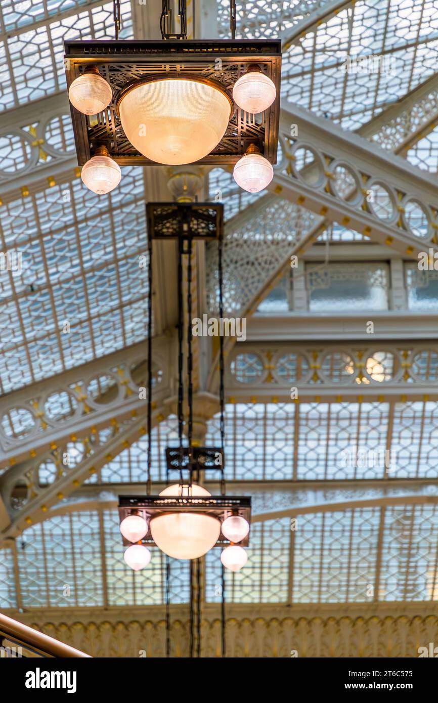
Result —
<instances>
[{"instance_id":1,"label":"shiny brown handrail in the bottom left corner","mask_svg":"<svg viewBox=\"0 0 438 703\"><path fill-rule=\"evenodd\" d=\"M0 640L6 638L11 642L32 650L42 657L89 657L89 654L75 650L49 635L44 635L33 627L23 625L18 620L0 613Z\"/></svg>"}]
</instances>

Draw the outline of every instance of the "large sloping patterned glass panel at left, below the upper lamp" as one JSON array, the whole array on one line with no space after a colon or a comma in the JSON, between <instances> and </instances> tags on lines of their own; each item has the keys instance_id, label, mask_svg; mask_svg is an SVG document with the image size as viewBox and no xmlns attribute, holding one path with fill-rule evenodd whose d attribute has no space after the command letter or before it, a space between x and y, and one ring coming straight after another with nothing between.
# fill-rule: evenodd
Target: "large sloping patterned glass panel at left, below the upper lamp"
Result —
<instances>
[{"instance_id":1,"label":"large sloping patterned glass panel at left, below the upper lamp","mask_svg":"<svg viewBox=\"0 0 438 703\"><path fill-rule=\"evenodd\" d=\"M0 393L146 338L143 193L127 167L108 195L65 175L4 205L0 248L21 252L22 273L0 272Z\"/></svg>"}]
</instances>

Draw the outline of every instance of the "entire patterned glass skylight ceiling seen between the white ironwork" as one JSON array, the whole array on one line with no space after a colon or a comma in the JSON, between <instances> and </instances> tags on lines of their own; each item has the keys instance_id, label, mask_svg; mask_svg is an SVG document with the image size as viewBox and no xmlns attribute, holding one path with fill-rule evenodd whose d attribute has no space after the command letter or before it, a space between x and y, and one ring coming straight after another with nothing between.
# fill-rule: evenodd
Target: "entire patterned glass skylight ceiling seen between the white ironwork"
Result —
<instances>
[{"instance_id":1,"label":"entire patterned glass skylight ceiling seen between the white ironwork","mask_svg":"<svg viewBox=\"0 0 438 703\"><path fill-rule=\"evenodd\" d=\"M324 4L238 2L236 37L285 32L287 38L299 20ZM121 38L132 37L129 0L122 1L122 19ZM221 36L229 36L228 0L219 2L219 22ZM0 32L0 110L10 110L64 91L63 41L112 39L112 3L3 0ZM357 129L424 82L436 70L437 53L434 0L347 2L285 50L283 96ZM387 70L346 73L342 64L353 54L386 56ZM68 120L58 118L51 131L53 144L65 150L71 146ZM420 140L407 155L431 172L437 171L436 134ZM0 138L0 157L2 169L11 173L27 159L19 138ZM239 191L230 172L213 169L210 197L224 202L229 219L261 195ZM55 186L30 188L29 195L17 195L2 206L0 249L19 248L23 255L21 273L0 273L0 395L146 337L146 273L138 266L139 254L146 253L144 200L143 172L124 168L119 188L110 195L94 195L69 172L58 175ZM348 242L362 236L335 224L321 235L326 238ZM65 321L70 332L63 331ZM230 403L227 477L271 482L382 479L381 451L391 446L397 472L389 473L388 482L396 476L435 478L437 416L437 403L420 401ZM215 417L208 423L205 444L216 444L218 437ZM165 446L176 442L176 418L170 416L154 430L154 480L166 478ZM371 449L375 463L344 465L345 451L357 456L363 448ZM143 437L89 483L143 482L145 458ZM49 482L49 469L46 473ZM248 567L226 574L226 600L366 602L368 583L376 586L377 600L437 599L437 505L371 505L314 512L299 520L293 535L289 518L253 525ZM148 579L127 569L115 510L51 517L27 529L16 550L20 589L12 550L0 549L0 607L129 606L165 600L162 555L155 550ZM206 562L206 598L217 602L218 551ZM70 596L64 595L65 584L71 586ZM188 601L188 585L187 565L172 561L172 602Z\"/></svg>"}]
</instances>

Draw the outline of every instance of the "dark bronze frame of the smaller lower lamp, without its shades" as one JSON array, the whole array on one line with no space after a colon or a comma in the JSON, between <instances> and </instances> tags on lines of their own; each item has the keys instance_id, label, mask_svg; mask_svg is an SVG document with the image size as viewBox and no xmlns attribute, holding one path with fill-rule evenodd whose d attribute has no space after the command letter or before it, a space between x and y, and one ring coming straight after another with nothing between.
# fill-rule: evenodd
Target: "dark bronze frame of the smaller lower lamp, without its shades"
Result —
<instances>
[{"instance_id":1,"label":"dark bronze frame of the smaller lower lamp, without its shades","mask_svg":"<svg viewBox=\"0 0 438 703\"><path fill-rule=\"evenodd\" d=\"M125 517L136 512L148 522L148 533L141 543L147 547L156 546L150 533L150 519L166 512L203 512L206 515L219 517L224 522L230 515L241 515L251 523L251 498L248 496L119 496L120 523ZM131 542L122 536L123 545L129 547ZM219 534L215 546L228 546L230 541ZM238 543L247 547L250 534Z\"/></svg>"}]
</instances>

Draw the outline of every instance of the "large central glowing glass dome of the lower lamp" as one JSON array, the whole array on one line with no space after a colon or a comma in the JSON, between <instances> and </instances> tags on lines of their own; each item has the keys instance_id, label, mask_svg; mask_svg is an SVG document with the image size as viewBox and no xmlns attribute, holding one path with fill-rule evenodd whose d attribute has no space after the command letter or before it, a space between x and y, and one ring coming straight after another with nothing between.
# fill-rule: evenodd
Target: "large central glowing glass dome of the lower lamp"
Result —
<instances>
[{"instance_id":1,"label":"large central glowing glass dome of the lower lamp","mask_svg":"<svg viewBox=\"0 0 438 703\"><path fill-rule=\"evenodd\" d=\"M210 496L202 486L174 484L160 496ZM150 531L157 547L174 559L198 559L217 543L221 522L202 512L168 512L150 520Z\"/></svg>"}]
</instances>

